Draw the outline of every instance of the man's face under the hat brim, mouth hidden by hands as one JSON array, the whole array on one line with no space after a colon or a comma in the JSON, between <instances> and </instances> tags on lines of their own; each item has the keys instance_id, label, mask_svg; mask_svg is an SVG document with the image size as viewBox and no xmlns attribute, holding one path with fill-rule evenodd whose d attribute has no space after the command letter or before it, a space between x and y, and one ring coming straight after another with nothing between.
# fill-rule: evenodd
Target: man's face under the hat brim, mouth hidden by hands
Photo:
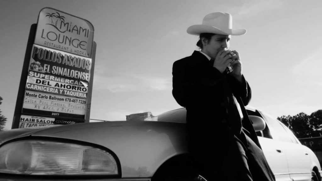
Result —
<instances>
[{"instance_id":1,"label":"man's face under the hat brim, mouth hidden by hands","mask_svg":"<svg viewBox=\"0 0 322 181\"><path fill-rule=\"evenodd\" d=\"M215 34L207 43L203 43L203 52L215 59L219 51L228 50L230 39L231 35Z\"/></svg>"}]
</instances>

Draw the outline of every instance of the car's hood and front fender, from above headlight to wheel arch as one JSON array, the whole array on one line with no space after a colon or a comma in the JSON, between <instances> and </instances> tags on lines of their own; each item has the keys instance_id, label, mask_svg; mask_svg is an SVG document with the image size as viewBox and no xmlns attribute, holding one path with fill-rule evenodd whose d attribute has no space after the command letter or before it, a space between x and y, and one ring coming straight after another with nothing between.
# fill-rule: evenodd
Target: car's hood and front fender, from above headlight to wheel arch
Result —
<instances>
[{"instance_id":1,"label":"car's hood and front fender, from above headlight to wheel arch","mask_svg":"<svg viewBox=\"0 0 322 181\"><path fill-rule=\"evenodd\" d=\"M0 132L1 143L22 137L51 137L88 142L114 152L122 177L152 176L161 163L186 153L185 124L159 121L110 121L13 129Z\"/></svg>"}]
</instances>

